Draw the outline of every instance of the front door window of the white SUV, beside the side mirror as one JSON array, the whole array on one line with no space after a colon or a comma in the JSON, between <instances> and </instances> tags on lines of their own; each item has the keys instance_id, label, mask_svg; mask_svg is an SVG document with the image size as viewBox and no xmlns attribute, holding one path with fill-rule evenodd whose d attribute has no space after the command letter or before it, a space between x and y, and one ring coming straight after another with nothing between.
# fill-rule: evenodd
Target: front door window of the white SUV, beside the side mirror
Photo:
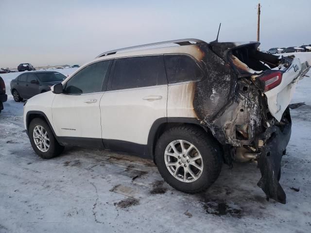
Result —
<instances>
[{"instance_id":1,"label":"front door window of the white SUV, beside the side mirror","mask_svg":"<svg viewBox=\"0 0 311 233\"><path fill-rule=\"evenodd\" d=\"M83 68L66 83L65 93L83 94L102 91L110 64L111 61L96 62Z\"/></svg>"}]
</instances>

